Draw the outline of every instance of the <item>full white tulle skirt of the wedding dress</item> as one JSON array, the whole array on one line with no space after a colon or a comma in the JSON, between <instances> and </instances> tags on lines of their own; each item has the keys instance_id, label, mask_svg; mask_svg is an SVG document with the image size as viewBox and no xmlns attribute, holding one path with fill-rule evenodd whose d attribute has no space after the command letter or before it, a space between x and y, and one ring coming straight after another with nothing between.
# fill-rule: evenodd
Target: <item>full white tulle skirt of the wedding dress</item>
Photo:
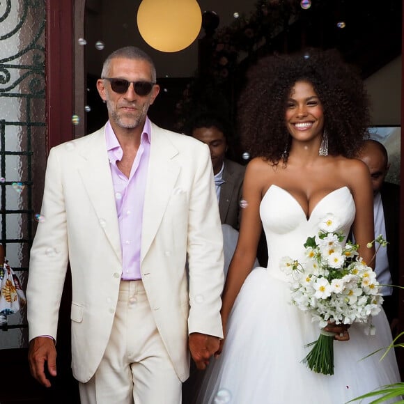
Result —
<instances>
[{"instance_id":1,"label":"full white tulle skirt of the wedding dress","mask_svg":"<svg viewBox=\"0 0 404 404\"><path fill-rule=\"evenodd\" d=\"M206 371L198 403L343 404L399 382L394 350L382 361L384 350L367 357L391 343L384 311L373 324L374 336L355 324L350 341L334 341L334 375L314 373L302 359L311 349L304 345L318 339L318 324L290 304L288 283L257 267L238 295L224 350Z\"/></svg>"}]
</instances>

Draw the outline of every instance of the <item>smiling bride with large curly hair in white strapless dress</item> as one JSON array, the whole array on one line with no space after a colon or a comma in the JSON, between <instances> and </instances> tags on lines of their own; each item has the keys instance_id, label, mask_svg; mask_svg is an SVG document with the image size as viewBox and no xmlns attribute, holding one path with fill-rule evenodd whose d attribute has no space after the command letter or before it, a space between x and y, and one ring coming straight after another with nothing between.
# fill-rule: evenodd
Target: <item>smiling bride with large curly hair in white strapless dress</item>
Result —
<instances>
[{"instance_id":1,"label":"smiling bride with large curly hair in white strapless dress","mask_svg":"<svg viewBox=\"0 0 404 404\"><path fill-rule=\"evenodd\" d=\"M240 238L223 293L226 337L205 375L199 403L343 404L398 382L381 311L375 335L353 324L335 332L334 375L302 363L318 339L318 323L290 304L284 256L302 258L325 215L355 234L372 266L373 194L367 167L356 160L368 127L362 79L334 51L267 56L252 68L240 96L240 133L254 157L244 177ZM251 270L263 224L268 265ZM366 357L366 359L364 359Z\"/></svg>"}]
</instances>

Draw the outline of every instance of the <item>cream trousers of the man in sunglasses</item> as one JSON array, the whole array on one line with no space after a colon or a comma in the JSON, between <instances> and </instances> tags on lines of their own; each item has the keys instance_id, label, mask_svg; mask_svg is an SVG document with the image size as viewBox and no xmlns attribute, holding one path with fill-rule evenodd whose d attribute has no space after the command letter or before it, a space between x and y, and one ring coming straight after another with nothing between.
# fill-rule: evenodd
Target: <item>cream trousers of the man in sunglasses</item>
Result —
<instances>
[{"instance_id":1,"label":"cream trousers of the man in sunglasses","mask_svg":"<svg viewBox=\"0 0 404 404\"><path fill-rule=\"evenodd\" d=\"M121 281L104 357L93 378L79 383L79 390L81 404L181 403L181 382L157 331L142 281Z\"/></svg>"}]
</instances>

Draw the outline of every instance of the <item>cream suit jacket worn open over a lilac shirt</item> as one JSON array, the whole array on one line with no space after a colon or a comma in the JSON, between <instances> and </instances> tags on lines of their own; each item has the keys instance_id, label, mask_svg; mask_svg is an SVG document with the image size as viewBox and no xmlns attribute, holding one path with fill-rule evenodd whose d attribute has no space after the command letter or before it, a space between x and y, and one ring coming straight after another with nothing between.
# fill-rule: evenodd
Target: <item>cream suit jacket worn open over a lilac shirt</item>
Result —
<instances>
[{"instance_id":1,"label":"cream suit jacket worn open over a lilac shirt","mask_svg":"<svg viewBox=\"0 0 404 404\"><path fill-rule=\"evenodd\" d=\"M41 213L45 220L33 241L26 291L29 339L56 339L70 262L72 369L77 380L87 382L109 340L123 270L104 127L52 148ZM208 147L152 124L141 274L157 328L182 381L189 375L188 334L223 336L222 243Z\"/></svg>"}]
</instances>

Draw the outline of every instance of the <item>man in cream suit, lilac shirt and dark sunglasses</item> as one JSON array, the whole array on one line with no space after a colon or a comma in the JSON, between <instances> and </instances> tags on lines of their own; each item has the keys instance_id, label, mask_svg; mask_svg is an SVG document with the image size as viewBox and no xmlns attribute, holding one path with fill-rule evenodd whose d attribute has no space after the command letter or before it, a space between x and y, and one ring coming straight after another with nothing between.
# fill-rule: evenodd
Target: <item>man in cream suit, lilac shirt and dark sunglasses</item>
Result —
<instances>
[{"instance_id":1,"label":"man in cream suit, lilac shirt and dark sunglasses","mask_svg":"<svg viewBox=\"0 0 404 404\"><path fill-rule=\"evenodd\" d=\"M70 262L81 404L180 403L188 352L203 369L223 336L222 233L209 150L148 120L155 81L147 54L118 49L97 84L107 125L49 153L45 220L27 288L29 362L49 387L44 369L56 375Z\"/></svg>"}]
</instances>

